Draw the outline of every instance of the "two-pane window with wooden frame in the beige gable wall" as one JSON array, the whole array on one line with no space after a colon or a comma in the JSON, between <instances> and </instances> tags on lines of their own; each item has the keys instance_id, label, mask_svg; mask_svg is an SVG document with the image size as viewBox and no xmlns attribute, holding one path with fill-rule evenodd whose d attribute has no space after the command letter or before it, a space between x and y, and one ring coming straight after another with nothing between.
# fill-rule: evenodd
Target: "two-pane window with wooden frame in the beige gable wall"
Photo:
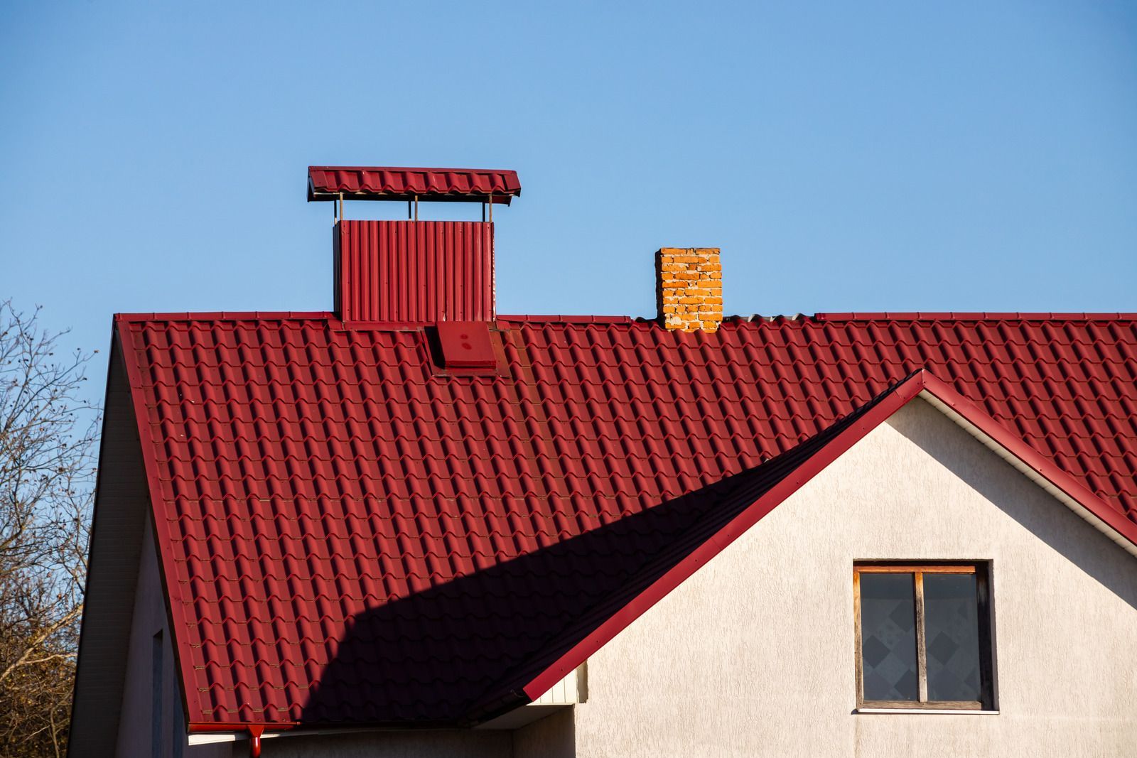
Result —
<instances>
[{"instance_id":1,"label":"two-pane window with wooden frame in the beige gable wall","mask_svg":"<svg viewBox=\"0 0 1137 758\"><path fill-rule=\"evenodd\" d=\"M857 708L994 710L987 566L853 566Z\"/></svg>"}]
</instances>

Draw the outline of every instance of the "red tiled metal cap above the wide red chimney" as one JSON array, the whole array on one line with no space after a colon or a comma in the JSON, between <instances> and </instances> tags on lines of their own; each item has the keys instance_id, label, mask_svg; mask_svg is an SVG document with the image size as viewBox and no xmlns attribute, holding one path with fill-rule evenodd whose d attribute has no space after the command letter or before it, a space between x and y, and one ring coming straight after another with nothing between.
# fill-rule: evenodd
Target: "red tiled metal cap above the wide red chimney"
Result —
<instances>
[{"instance_id":1,"label":"red tiled metal cap above the wide red chimney","mask_svg":"<svg viewBox=\"0 0 1137 758\"><path fill-rule=\"evenodd\" d=\"M521 195L517 172L480 168L308 166L308 201L457 200L509 205Z\"/></svg>"}]
</instances>

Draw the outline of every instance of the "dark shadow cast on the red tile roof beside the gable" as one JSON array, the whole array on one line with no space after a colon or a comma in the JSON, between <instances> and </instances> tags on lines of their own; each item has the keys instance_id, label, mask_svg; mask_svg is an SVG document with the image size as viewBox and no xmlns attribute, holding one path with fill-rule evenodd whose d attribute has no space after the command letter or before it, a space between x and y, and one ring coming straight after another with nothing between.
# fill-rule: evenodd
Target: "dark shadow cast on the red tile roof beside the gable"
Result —
<instances>
[{"instance_id":1,"label":"dark shadow cast on the red tile roof beside the gable","mask_svg":"<svg viewBox=\"0 0 1137 758\"><path fill-rule=\"evenodd\" d=\"M528 702L537 675L894 389L761 466L356 616L300 722L466 725Z\"/></svg>"}]
</instances>

